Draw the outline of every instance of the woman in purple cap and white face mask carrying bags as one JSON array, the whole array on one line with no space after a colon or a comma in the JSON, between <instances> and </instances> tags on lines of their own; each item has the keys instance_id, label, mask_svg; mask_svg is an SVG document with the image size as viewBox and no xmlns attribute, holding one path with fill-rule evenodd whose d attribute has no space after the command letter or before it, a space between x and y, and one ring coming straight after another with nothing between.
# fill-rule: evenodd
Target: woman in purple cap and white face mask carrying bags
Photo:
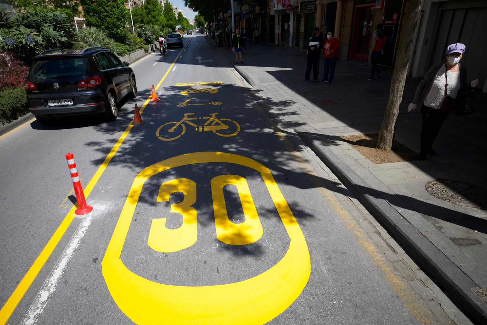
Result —
<instances>
[{"instance_id":1,"label":"woman in purple cap and white face mask carrying bags","mask_svg":"<svg viewBox=\"0 0 487 325\"><path fill-rule=\"evenodd\" d=\"M447 95L452 99L456 99L458 94L464 91L467 68L459 63L464 52L465 45L462 43L449 45L445 52L446 61L433 65L426 72L416 89L414 100L408 106L408 112L418 107L421 110L423 125L421 127L420 159L426 159L427 154L436 156L431 145L448 116L447 112L440 109L445 100L445 84L447 84ZM478 82L479 80L476 79L470 85L476 87Z\"/></svg>"}]
</instances>

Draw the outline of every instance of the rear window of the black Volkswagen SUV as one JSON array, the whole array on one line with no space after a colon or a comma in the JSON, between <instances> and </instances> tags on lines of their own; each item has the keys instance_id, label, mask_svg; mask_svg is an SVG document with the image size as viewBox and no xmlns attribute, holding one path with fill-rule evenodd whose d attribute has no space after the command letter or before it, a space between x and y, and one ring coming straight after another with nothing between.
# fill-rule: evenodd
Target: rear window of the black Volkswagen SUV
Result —
<instances>
[{"instance_id":1,"label":"rear window of the black Volkswagen SUV","mask_svg":"<svg viewBox=\"0 0 487 325\"><path fill-rule=\"evenodd\" d=\"M83 77L90 74L88 59L83 57L46 58L32 62L32 79Z\"/></svg>"}]
</instances>

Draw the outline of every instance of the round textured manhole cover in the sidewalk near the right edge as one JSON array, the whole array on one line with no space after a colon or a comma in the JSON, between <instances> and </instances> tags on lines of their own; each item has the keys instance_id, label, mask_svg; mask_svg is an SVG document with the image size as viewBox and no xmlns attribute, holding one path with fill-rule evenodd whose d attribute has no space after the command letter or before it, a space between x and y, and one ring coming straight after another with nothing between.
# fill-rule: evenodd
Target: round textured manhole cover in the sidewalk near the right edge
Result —
<instances>
[{"instance_id":1,"label":"round textured manhole cover in the sidewalk near the right edge","mask_svg":"<svg viewBox=\"0 0 487 325\"><path fill-rule=\"evenodd\" d=\"M452 204L487 210L487 190L474 184L437 179L426 183L426 190Z\"/></svg>"}]
</instances>

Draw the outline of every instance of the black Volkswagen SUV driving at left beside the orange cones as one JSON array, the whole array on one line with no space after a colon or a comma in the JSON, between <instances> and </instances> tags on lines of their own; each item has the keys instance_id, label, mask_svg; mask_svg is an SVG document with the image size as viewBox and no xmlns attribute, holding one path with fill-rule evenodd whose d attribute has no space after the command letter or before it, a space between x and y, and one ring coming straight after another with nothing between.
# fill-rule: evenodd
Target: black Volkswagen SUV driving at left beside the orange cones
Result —
<instances>
[{"instance_id":1,"label":"black Volkswagen SUV driving at left beside the orange cones","mask_svg":"<svg viewBox=\"0 0 487 325\"><path fill-rule=\"evenodd\" d=\"M30 112L43 124L54 122L55 116L85 113L115 120L117 103L126 95L137 96L129 63L100 46L41 52L24 87Z\"/></svg>"}]
</instances>

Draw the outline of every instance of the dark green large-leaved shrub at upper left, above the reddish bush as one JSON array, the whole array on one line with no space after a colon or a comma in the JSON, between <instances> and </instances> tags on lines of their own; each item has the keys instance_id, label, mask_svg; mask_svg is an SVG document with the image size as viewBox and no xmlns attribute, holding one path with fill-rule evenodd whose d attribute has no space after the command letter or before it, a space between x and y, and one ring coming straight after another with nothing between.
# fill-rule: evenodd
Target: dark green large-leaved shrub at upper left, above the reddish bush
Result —
<instances>
[{"instance_id":1,"label":"dark green large-leaved shrub at upper left, above the reddish bush","mask_svg":"<svg viewBox=\"0 0 487 325\"><path fill-rule=\"evenodd\" d=\"M0 50L29 64L39 52L73 46L72 16L65 9L26 7L0 28Z\"/></svg>"}]
</instances>

